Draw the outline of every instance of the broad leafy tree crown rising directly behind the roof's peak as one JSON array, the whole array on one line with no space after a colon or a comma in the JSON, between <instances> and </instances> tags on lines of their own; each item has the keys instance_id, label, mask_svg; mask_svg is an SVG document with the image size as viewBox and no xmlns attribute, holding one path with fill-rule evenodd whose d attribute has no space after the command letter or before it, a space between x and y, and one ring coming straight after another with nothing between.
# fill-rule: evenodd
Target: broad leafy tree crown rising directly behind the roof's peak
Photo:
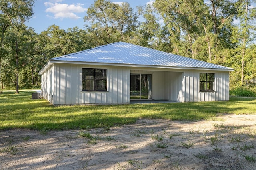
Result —
<instances>
[{"instance_id":1,"label":"broad leafy tree crown rising directly behind the roof's peak","mask_svg":"<svg viewBox=\"0 0 256 170\"><path fill-rule=\"evenodd\" d=\"M118 5L111 1L96 0L88 8L87 16L84 16L84 21L91 23L91 26L86 27L88 34L94 38L94 46L126 40L137 27L141 12L141 8L133 12L127 2Z\"/></svg>"}]
</instances>

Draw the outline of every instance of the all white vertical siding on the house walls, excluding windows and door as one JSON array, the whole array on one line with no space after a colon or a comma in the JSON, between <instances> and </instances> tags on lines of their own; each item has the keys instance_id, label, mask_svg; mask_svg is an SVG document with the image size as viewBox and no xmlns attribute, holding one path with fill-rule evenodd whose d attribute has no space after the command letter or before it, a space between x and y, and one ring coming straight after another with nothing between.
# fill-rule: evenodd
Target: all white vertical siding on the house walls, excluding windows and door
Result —
<instances>
[{"instance_id":1,"label":"all white vertical siding on the house walls, excluding windows and door","mask_svg":"<svg viewBox=\"0 0 256 170\"><path fill-rule=\"evenodd\" d=\"M199 91L199 73L208 71L181 70L183 72L130 70L129 67L103 67L108 69L107 91L82 92L82 68L101 68L96 65L54 64L42 75L42 93L54 105L104 104L130 102L130 74L152 75L152 99L172 101L229 100L229 72L216 71L215 91ZM53 98L52 98L53 95Z\"/></svg>"}]
</instances>

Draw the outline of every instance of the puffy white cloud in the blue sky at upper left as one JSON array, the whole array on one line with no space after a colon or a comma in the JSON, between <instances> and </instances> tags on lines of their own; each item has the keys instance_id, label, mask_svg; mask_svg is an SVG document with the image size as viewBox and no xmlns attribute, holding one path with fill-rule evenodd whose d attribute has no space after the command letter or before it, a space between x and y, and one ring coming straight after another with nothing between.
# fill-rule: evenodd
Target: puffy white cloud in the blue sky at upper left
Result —
<instances>
[{"instance_id":1,"label":"puffy white cloud in the blue sky at upper left","mask_svg":"<svg viewBox=\"0 0 256 170\"><path fill-rule=\"evenodd\" d=\"M44 5L48 7L45 12L50 12L54 14L54 18L71 18L78 19L80 16L74 13L82 13L87 9L83 8L83 4L60 4L57 2L61 2L62 0L54 0L55 3L52 2L44 2ZM48 16L48 15L47 15Z\"/></svg>"}]
</instances>

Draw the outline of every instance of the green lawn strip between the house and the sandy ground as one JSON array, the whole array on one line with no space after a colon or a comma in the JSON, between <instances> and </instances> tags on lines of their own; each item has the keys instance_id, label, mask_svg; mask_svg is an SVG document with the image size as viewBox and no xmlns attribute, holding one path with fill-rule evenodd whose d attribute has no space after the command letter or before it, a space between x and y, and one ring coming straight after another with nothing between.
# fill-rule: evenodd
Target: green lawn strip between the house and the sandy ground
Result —
<instances>
[{"instance_id":1,"label":"green lawn strip between the house and the sandy ground","mask_svg":"<svg viewBox=\"0 0 256 170\"><path fill-rule=\"evenodd\" d=\"M218 113L256 114L256 98L230 97L230 101L54 107L44 99L32 100L32 93L0 93L0 129L85 129L134 123L139 118L198 121L215 119Z\"/></svg>"}]
</instances>

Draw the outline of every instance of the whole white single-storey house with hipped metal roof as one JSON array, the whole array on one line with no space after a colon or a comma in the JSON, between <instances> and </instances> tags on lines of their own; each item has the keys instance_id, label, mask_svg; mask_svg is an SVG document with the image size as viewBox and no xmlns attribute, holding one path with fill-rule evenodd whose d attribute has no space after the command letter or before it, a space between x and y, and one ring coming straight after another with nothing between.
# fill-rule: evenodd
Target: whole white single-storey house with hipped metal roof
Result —
<instances>
[{"instance_id":1,"label":"whole white single-storey house with hipped metal roof","mask_svg":"<svg viewBox=\"0 0 256 170\"><path fill-rule=\"evenodd\" d=\"M125 42L50 59L40 71L53 105L131 100L227 101L234 69Z\"/></svg>"}]
</instances>

